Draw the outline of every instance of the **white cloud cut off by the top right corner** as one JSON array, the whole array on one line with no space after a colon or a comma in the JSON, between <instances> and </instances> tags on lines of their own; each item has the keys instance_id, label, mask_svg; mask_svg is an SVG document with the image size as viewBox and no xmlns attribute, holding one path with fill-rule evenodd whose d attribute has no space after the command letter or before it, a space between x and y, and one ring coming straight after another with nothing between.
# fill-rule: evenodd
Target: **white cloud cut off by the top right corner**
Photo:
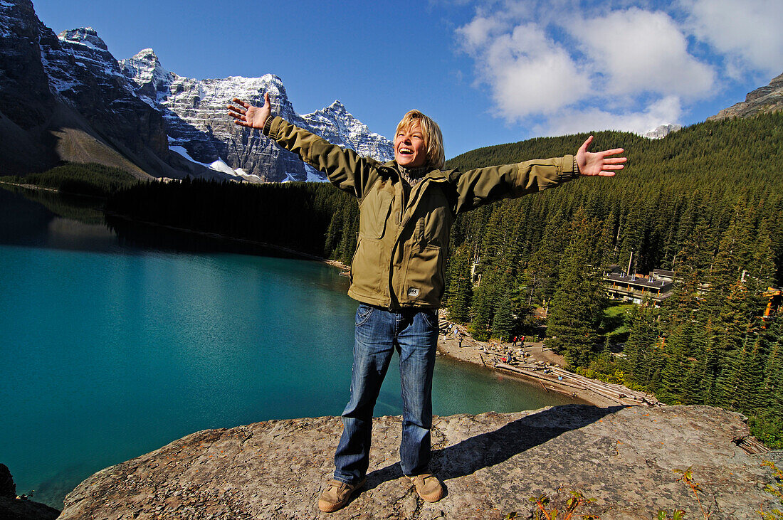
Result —
<instances>
[{"instance_id":1,"label":"white cloud cut off by the top right corner","mask_svg":"<svg viewBox=\"0 0 783 520\"><path fill-rule=\"evenodd\" d=\"M727 74L783 70L781 0L682 0L687 27L725 54Z\"/></svg>"}]
</instances>

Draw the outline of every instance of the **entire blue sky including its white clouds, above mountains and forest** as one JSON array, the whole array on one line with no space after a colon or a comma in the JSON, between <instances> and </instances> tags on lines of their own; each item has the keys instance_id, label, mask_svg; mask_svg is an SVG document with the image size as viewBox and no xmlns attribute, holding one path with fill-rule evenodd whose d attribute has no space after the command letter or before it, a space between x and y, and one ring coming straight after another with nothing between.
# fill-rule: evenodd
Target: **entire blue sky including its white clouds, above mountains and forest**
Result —
<instances>
[{"instance_id":1,"label":"entire blue sky including its white clouds, above mountains and forest","mask_svg":"<svg viewBox=\"0 0 783 520\"><path fill-rule=\"evenodd\" d=\"M780 0L33 0L117 59L197 79L276 74L298 113L343 102L391 137L412 108L446 156L542 135L693 124L783 72Z\"/></svg>"}]
</instances>

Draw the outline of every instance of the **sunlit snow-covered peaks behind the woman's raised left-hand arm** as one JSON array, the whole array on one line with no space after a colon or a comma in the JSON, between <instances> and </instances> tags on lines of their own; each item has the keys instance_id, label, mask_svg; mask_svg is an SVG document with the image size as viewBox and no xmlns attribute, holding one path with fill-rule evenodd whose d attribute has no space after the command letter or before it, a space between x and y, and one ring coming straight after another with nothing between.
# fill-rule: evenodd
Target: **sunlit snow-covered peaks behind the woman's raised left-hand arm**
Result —
<instances>
[{"instance_id":1,"label":"sunlit snow-covered peaks behind the woman's raised left-hand arm","mask_svg":"<svg viewBox=\"0 0 783 520\"><path fill-rule=\"evenodd\" d=\"M195 80L165 70L150 48L121 60L120 66L135 84L139 98L163 115L170 145L182 147L200 163L222 160L248 181L324 179L323 174L258 131L237 127L226 115L226 104L231 99L261 104L265 92L269 92L275 115L363 156L381 161L393 157L391 142L371 132L339 101L312 114L296 113L283 81L272 74Z\"/></svg>"}]
</instances>

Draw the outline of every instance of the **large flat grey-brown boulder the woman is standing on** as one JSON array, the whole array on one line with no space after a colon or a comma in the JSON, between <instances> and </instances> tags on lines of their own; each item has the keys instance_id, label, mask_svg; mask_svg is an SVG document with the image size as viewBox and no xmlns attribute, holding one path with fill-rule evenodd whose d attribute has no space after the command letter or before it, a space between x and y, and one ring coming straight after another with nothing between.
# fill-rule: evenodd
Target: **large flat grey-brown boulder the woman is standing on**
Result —
<instances>
[{"instance_id":1,"label":"large flat grey-brown boulder the woman is standing on","mask_svg":"<svg viewBox=\"0 0 783 520\"><path fill-rule=\"evenodd\" d=\"M759 518L777 500L764 459L746 454L739 414L712 407L566 405L514 414L435 418L433 469L447 494L420 500L399 468L400 418L377 418L366 489L331 515L316 500L333 470L339 418L266 421L193 433L106 468L65 500L60 518L529 518L529 497L581 515L702 518L677 471L691 467L709 518Z\"/></svg>"}]
</instances>

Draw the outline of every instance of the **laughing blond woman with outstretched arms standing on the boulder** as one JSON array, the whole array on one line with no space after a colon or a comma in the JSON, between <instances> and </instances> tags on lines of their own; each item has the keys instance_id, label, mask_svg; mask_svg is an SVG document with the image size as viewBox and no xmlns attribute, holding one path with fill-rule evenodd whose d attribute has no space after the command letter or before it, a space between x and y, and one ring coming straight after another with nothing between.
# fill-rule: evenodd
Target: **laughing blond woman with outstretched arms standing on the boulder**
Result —
<instances>
[{"instance_id":1,"label":"laughing blond woman with outstretched arms standing on the boulder","mask_svg":"<svg viewBox=\"0 0 783 520\"><path fill-rule=\"evenodd\" d=\"M381 163L272 117L269 93L263 106L240 99L233 103L228 109L236 124L261 130L283 149L297 153L359 203L359 237L348 289L348 296L359 302L351 396L342 413L334 478L319 497L320 510L344 507L366 482L373 409L395 350L402 394L400 467L422 499L440 500L442 482L430 468L431 391L438 307L454 218L580 176L612 177L626 161L616 156L623 150L588 152L590 136L576 155L464 172L443 170L438 124L411 110L397 125L394 160Z\"/></svg>"}]
</instances>

